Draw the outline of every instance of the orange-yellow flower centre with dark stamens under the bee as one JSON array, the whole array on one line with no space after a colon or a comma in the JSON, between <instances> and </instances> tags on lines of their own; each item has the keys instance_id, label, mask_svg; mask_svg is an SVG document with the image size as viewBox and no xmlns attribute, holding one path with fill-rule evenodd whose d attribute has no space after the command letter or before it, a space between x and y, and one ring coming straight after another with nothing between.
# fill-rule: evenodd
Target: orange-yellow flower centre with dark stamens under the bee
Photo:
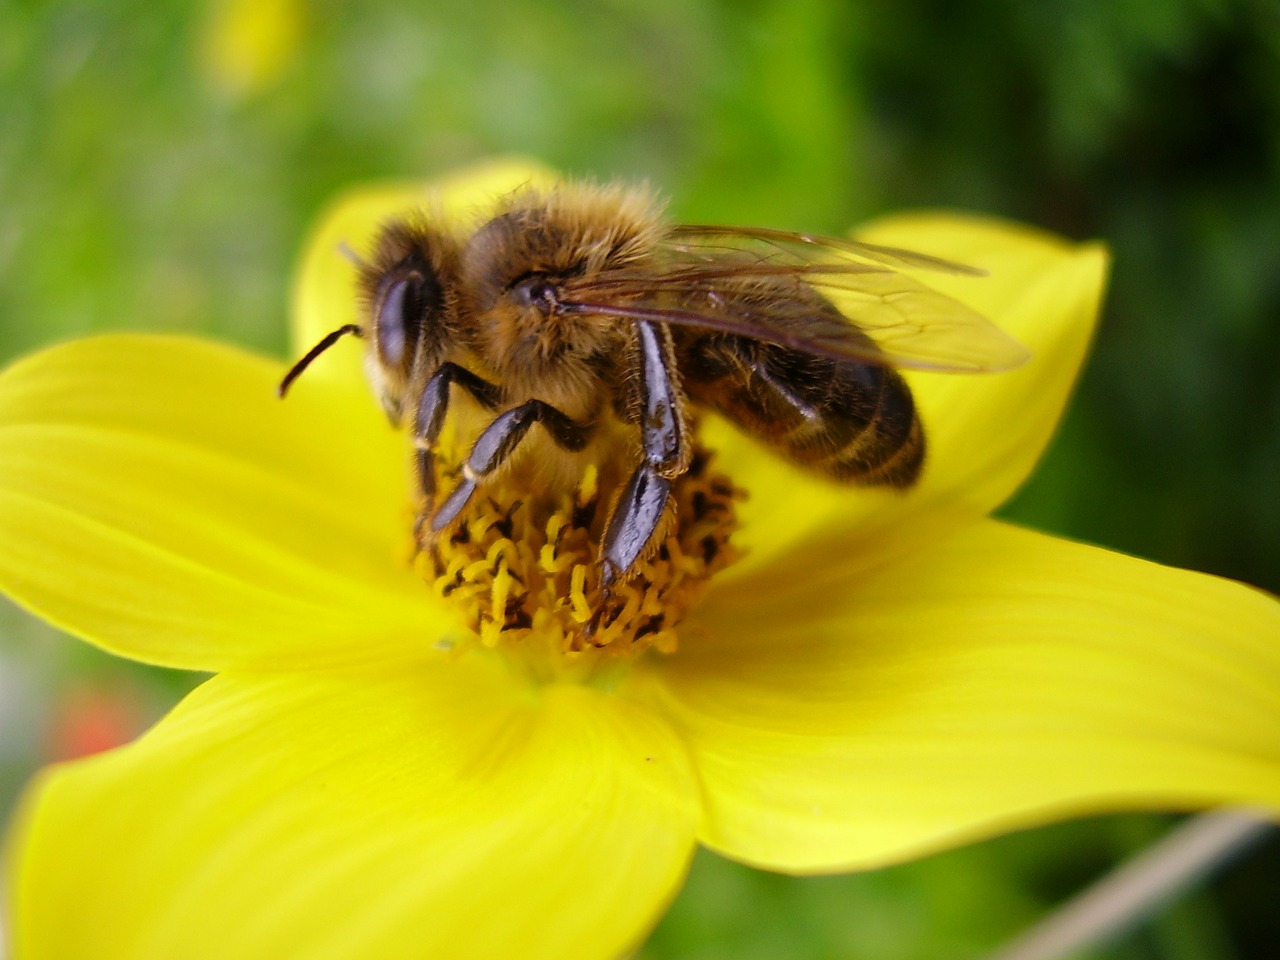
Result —
<instances>
[{"instance_id":1,"label":"orange-yellow flower centre with dark stamens under the bee","mask_svg":"<svg viewBox=\"0 0 1280 960\"><path fill-rule=\"evenodd\" d=\"M598 559L621 486L607 461L586 462L556 495L513 471L486 484L444 531L420 544L415 566L465 627L449 646L502 649L535 672L588 672L605 659L672 653L677 627L712 576L737 559L730 536L742 497L698 449L672 489L657 543L628 576L605 588ZM438 468L451 489L456 470ZM603 483L602 483L603 479Z\"/></svg>"}]
</instances>

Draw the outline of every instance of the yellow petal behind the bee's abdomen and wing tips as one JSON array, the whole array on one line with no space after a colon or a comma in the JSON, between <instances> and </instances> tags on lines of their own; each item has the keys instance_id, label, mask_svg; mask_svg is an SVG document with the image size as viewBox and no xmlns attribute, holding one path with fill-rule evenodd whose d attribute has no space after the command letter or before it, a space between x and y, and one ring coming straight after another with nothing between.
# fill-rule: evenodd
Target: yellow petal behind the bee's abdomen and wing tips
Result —
<instances>
[{"instance_id":1,"label":"yellow petal behind the bee's abdomen and wing tips","mask_svg":"<svg viewBox=\"0 0 1280 960\"><path fill-rule=\"evenodd\" d=\"M992 511L1034 467L1088 348L1107 269L1097 244L1074 246L959 214L901 215L859 237L989 271L980 278L920 273L919 279L987 316L1027 347L1030 360L995 374L908 372L928 454L920 483L906 494L815 479L710 424L710 445L751 493L739 538L751 554L740 573L767 567L783 552L803 558L828 538L849 550L884 549L904 520L937 527Z\"/></svg>"}]
</instances>

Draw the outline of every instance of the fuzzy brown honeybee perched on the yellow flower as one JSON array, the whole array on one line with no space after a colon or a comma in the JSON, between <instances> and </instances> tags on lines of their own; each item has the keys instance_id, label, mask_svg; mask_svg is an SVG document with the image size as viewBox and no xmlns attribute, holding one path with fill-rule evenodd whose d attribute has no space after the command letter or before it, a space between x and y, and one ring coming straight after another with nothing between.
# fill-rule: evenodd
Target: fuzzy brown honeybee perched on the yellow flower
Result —
<instances>
[{"instance_id":1,"label":"fuzzy brown honeybee perched on the yellow flower","mask_svg":"<svg viewBox=\"0 0 1280 960\"><path fill-rule=\"evenodd\" d=\"M833 480L915 483L924 431L897 367L1002 370L1027 353L914 269L982 273L847 239L675 225L643 189L522 189L470 236L422 216L387 224L358 261L361 323L317 343L279 393L339 338L365 338L378 397L408 424L433 534L534 445L535 424L566 453L621 426L634 467L600 538L607 590L654 543L699 408ZM489 420L438 498L456 390Z\"/></svg>"}]
</instances>

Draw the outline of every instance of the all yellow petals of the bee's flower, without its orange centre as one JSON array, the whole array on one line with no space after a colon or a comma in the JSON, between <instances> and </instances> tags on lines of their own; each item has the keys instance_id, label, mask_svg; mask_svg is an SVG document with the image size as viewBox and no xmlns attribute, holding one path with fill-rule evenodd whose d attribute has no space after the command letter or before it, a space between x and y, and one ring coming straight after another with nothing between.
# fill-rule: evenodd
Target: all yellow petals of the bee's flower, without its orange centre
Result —
<instances>
[{"instance_id":1,"label":"all yellow petals of the bee's flower, without its orange centre","mask_svg":"<svg viewBox=\"0 0 1280 960\"><path fill-rule=\"evenodd\" d=\"M474 170L434 202L458 215L544 175ZM300 347L353 316L340 242L424 200L332 211ZM192 339L12 366L0 584L108 650L216 673L32 787L18 955L603 959L644 937L696 844L817 873L1079 813L1280 809L1280 604L986 516L1053 429L1103 251L964 216L864 236L989 270L933 283L1033 360L910 376L931 454L908 494L827 486L708 424L750 494L745 556L671 653L603 672L438 643L462 636L457 604L406 562L406 443L360 344L283 403L280 364Z\"/></svg>"}]
</instances>

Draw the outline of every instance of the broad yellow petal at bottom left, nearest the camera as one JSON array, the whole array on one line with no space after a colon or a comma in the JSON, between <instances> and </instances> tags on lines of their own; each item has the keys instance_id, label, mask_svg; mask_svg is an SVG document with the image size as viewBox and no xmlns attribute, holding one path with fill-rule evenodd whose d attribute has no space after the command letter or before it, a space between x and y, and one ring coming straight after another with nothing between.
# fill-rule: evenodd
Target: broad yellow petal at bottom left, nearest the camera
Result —
<instances>
[{"instance_id":1,"label":"broad yellow petal at bottom left, nearest the camera","mask_svg":"<svg viewBox=\"0 0 1280 960\"><path fill-rule=\"evenodd\" d=\"M673 895L695 797L643 709L495 660L221 675L38 783L17 952L604 960Z\"/></svg>"}]
</instances>

